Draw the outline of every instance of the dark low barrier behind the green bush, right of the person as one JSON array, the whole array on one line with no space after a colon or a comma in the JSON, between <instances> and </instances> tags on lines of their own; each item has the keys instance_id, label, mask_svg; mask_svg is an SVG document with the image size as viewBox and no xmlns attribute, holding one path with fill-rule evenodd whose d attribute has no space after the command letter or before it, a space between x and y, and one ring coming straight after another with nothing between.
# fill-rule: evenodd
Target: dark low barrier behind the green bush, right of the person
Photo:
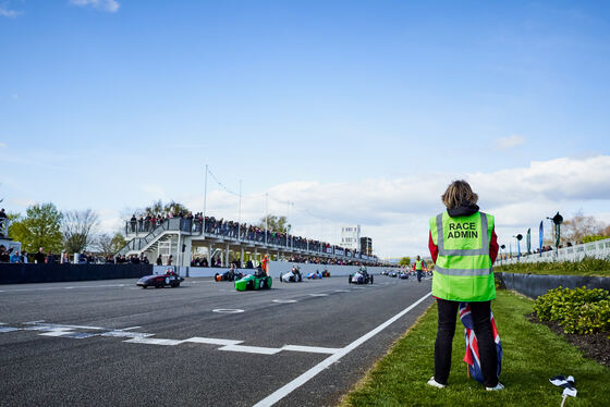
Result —
<instances>
[{"instance_id":1,"label":"dark low barrier behind the green bush, right of the person","mask_svg":"<svg viewBox=\"0 0 610 407\"><path fill-rule=\"evenodd\" d=\"M495 273L504 282L508 289L514 289L529 298L537 298L547 294L549 289L562 286L576 288L585 285L587 288L602 288L610 292L610 278L584 275L546 275L521 273Z\"/></svg>"}]
</instances>

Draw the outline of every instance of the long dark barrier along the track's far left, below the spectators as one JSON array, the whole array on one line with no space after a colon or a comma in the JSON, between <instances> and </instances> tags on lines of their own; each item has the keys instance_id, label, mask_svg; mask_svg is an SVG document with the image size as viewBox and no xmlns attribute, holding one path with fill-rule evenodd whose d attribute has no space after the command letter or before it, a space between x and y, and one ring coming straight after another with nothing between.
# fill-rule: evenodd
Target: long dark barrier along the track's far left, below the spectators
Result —
<instances>
[{"instance_id":1,"label":"long dark barrier along the track's far left, below the spectators","mask_svg":"<svg viewBox=\"0 0 610 407\"><path fill-rule=\"evenodd\" d=\"M139 279L151 273L151 264L0 263L0 284Z\"/></svg>"}]
</instances>

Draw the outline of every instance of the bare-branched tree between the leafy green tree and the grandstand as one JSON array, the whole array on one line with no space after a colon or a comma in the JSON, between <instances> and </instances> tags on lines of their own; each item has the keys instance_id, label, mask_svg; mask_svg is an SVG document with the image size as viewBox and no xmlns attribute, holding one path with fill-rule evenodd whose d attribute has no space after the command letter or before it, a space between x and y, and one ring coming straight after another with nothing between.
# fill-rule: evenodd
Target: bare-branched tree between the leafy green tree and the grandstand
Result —
<instances>
[{"instance_id":1,"label":"bare-branched tree between the leafy green tree and the grandstand","mask_svg":"<svg viewBox=\"0 0 610 407\"><path fill-rule=\"evenodd\" d=\"M61 224L65 249L69 252L83 251L91 243L98 224L97 213L90 209L65 212Z\"/></svg>"}]
</instances>

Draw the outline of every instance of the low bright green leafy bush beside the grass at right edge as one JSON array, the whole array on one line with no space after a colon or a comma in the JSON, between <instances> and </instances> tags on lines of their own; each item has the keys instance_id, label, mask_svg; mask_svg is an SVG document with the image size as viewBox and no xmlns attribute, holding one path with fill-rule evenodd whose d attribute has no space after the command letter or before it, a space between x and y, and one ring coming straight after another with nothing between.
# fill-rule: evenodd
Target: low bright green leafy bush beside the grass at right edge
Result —
<instances>
[{"instance_id":1,"label":"low bright green leafy bush beside the grass at right edge","mask_svg":"<svg viewBox=\"0 0 610 407\"><path fill-rule=\"evenodd\" d=\"M565 333L610 332L610 293L561 286L536 299L534 311L541 321L556 321Z\"/></svg>"}]
</instances>

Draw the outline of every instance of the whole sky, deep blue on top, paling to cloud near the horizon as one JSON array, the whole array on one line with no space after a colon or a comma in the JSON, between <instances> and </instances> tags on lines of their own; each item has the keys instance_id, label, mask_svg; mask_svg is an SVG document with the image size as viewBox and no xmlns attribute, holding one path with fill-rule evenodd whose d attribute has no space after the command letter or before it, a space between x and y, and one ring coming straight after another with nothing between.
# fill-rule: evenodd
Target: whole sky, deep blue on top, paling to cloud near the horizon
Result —
<instances>
[{"instance_id":1,"label":"whole sky, deep blue on top, paling to cloud near the horizon","mask_svg":"<svg viewBox=\"0 0 610 407\"><path fill-rule=\"evenodd\" d=\"M111 230L157 197L200 210L208 163L243 180L243 218L270 192L296 232L361 223L385 256L425 252L453 178L479 182L505 238L556 210L610 221L609 9L0 0L2 205L93 208ZM582 194L523 190L539 171ZM208 203L237 217L212 185Z\"/></svg>"}]
</instances>

